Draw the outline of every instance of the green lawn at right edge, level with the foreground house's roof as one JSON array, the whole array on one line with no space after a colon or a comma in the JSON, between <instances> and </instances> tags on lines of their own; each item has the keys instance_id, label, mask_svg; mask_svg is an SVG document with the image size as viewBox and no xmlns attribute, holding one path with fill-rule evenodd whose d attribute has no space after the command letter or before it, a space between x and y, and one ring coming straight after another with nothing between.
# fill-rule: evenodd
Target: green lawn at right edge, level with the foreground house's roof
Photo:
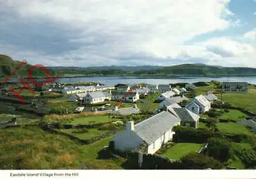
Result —
<instances>
[{"instance_id":1,"label":"green lawn at right edge, level with the foreground house's roof","mask_svg":"<svg viewBox=\"0 0 256 179\"><path fill-rule=\"evenodd\" d=\"M254 135L251 131L246 129L244 125L238 125L233 122L218 123L217 128L220 130L220 132L223 132L223 133L248 134L250 136Z\"/></svg>"}]
</instances>

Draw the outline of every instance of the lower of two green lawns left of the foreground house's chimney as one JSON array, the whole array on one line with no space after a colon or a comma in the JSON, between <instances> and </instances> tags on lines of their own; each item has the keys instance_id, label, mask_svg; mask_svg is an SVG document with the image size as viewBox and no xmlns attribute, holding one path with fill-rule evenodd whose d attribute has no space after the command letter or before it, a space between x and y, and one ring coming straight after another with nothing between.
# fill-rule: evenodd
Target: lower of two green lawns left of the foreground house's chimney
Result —
<instances>
[{"instance_id":1,"label":"lower of two green lawns left of the foreground house's chimney","mask_svg":"<svg viewBox=\"0 0 256 179\"><path fill-rule=\"evenodd\" d=\"M67 134L71 134L72 136L80 138L81 140L88 140L90 138L93 138L94 136L98 136L100 134L103 134L104 132L107 132L107 131L102 131L102 130L98 130L98 129L88 129L89 132L81 133L81 134L72 133L72 131L74 131L74 129L61 129L60 131L66 132Z\"/></svg>"}]
</instances>

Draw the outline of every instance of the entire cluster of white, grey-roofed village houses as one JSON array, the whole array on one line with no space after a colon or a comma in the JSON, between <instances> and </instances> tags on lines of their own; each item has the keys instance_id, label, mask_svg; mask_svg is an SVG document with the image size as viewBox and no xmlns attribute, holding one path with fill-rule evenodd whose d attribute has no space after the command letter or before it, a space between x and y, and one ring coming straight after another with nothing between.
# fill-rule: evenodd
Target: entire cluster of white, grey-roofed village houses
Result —
<instances>
[{"instance_id":1,"label":"entire cluster of white, grey-roofed village houses","mask_svg":"<svg viewBox=\"0 0 256 179\"><path fill-rule=\"evenodd\" d=\"M248 90L247 83L223 82L222 86L223 92L247 92ZM160 95L156 98L156 101L159 101L159 108L156 111L159 113L136 125L133 121L128 121L126 130L116 134L112 139L117 150L132 150L145 142L147 143L147 153L154 154L164 143L172 141L173 134L175 134L174 126L198 128L200 113L209 111L211 103L218 100L218 97L209 91L204 95L195 96L189 101L184 94L195 89L196 86L191 83L179 89L169 84L133 86L117 84L113 87L97 84L86 87L64 87L59 92L74 94L69 97L69 101L83 101L84 104L97 104L111 100L134 103L130 108L118 109L118 105L114 105L113 110L102 110L105 113L114 112L121 115L139 113L140 109L136 101L140 100L140 96L147 96L149 92L159 92ZM51 90L56 90L56 88ZM188 103L181 107L179 103L182 101L188 101Z\"/></svg>"}]
</instances>

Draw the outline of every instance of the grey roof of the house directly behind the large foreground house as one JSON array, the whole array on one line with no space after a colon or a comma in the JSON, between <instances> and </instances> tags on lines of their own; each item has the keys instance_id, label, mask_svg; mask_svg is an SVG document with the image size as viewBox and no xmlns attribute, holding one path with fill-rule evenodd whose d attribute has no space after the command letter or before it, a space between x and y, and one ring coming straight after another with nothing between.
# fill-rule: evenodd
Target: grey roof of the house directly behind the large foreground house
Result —
<instances>
[{"instance_id":1,"label":"grey roof of the house directly behind the large foreground house","mask_svg":"<svg viewBox=\"0 0 256 179\"><path fill-rule=\"evenodd\" d=\"M198 115L189 111L186 108L173 108L173 110L175 111L175 113L177 113L181 121L196 122L199 119Z\"/></svg>"}]
</instances>

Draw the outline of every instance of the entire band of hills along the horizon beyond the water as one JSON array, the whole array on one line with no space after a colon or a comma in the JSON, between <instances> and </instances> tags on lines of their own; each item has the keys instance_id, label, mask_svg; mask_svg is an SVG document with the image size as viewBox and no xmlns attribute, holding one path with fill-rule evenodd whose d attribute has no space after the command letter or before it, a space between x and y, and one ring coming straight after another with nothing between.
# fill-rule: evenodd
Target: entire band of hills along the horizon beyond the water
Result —
<instances>
[{"instance_id":1,"label":"entire band of hills along the horizon beyond the water","mask_svg":"<svg viewBox=\"0 0 256 179\"><path fill-rule=\"evenodd\" d=\"M0 76L6 76L17 66L19 61L0 55ZM16 76L28 77L27 64L17 71ZM176 66L95 66L95 67L47 67L51 75L61 72L60 77L76 76L256 76L256 68L221 67L206 64L180 64ZM44 71L35 69L33 76L45 77ZM3 78L3 77L2 77Z\"/></svg>"}]
</instances>

